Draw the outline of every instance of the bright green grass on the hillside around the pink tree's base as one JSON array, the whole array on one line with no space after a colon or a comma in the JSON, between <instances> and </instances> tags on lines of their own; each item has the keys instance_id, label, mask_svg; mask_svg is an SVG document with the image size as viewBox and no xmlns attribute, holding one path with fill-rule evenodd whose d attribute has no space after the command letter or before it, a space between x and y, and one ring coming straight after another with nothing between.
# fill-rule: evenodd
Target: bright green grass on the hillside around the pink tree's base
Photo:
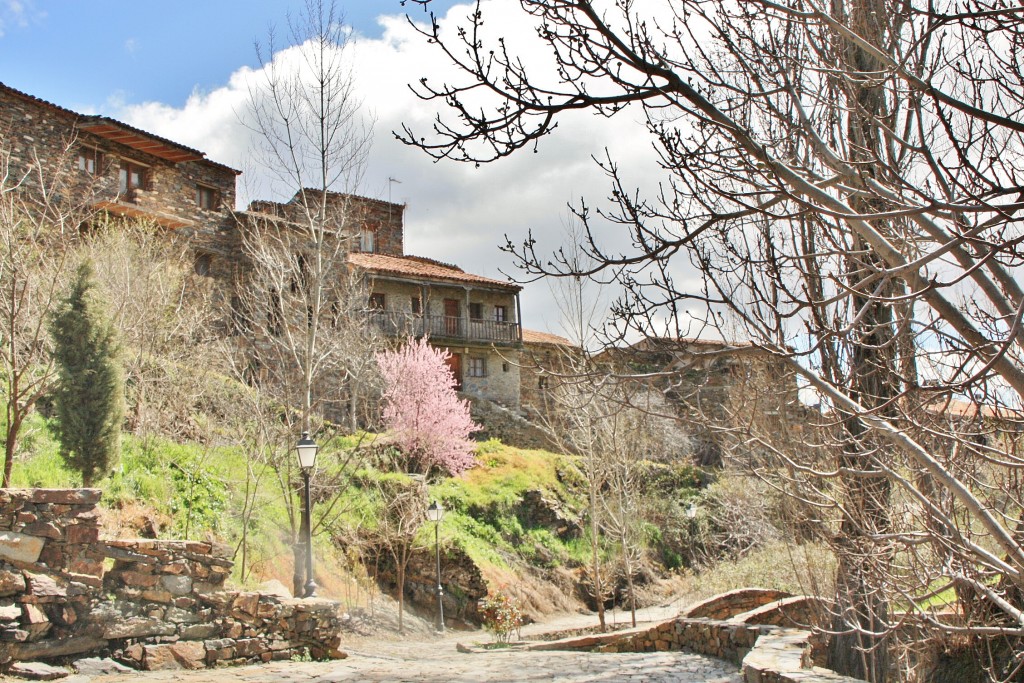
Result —
<instances>
[{"instance_id":1,"label":"bright green grass on the hillside around the pink tree's base","mask_svg":"<svg viewBox=\"0 0 1024 683\"><path fill-rule=\"evenodd\" d=\"M317 557L336 556L339 566L351 558L332 553L331 539L353 530L371 531L380 514L380 484L410 483L409 475L383 472L364 464L342 473L344 453L365 445L373 435L339 436L323 444L318 469L325 479L336 475L337 502L331 508L330 529L317 539ZM23 453L14 467L15 486L77 486L79 476L69 471L47 422L34 416L23 438ZM479 444L479 465L460 477L430 486L447 513L440 525L441 543L461 548L481 569L494 567L514 574L525 565L545 568L582 566L590 562L586 533L559 536L530 518L523 496L540 492L568 515L582 517L585 481L574 460L544 451L515 449L492 439ZM111 510L142 506L171 520L164 538L216 538L234 547L246 535L246 562L257 572L290 557L290 520L276 479L263 472L259 486L247 477L252 463L241 447L209 447L174 442L162 437L125 434L122 456L110 476L98 482L102 505ZM255 473L259 474L258 468ZM247 495L247 485L250 492ZM248 508L247 508L248 502ZM314 518L329 506L314 507ZM244 515L245 510L251 514ZM430 546L433 525L424 523L418 543ZM602 552L607 549L602 548ZM242 557L236 580L242 579Z\"/></svg>"}]
</instances>

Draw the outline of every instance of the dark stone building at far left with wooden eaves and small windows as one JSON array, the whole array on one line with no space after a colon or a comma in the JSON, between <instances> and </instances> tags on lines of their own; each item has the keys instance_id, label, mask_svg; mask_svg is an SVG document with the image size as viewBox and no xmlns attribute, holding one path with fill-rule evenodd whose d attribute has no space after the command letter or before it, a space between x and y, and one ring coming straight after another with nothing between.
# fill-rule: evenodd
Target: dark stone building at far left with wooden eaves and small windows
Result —
<instances>
[{"instance_id":1,"label":"dark stone building at far left with wooden eaves and small windows","mask_svg":"<svg viewBox=\"0 0 1024 683\"><path fill-rule=\"evenodd\" d=\"M198 150L0 83L0 151L8 188L46 186L83 228L105 212L187 232L210 252L229 249L240 172Z\"/></svg>"}]
</instances>

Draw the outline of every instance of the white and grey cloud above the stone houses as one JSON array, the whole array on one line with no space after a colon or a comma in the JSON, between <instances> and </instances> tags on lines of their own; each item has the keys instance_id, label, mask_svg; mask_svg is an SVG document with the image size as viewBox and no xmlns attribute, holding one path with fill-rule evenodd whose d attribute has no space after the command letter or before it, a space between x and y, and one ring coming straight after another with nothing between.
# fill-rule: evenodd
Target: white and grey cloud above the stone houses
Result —
<instances>
[{"instance_id":1,"label":"white and grey cloud above the stone houses","mask_svg":"<svg viewBox=\"0 0 1024 683\"><path fill-rule=\"evenodd\" d=\"M493 16L490 26L500 27L505 35L528 35L513 20L521 12L504 15L507 5L493 6L502 15ZM468 11L467 6L456 6L447 17L461 18ZM593 203L607 197L607 178L590 158L603 154L605 147L631 174L634 184L656 187L649 139L631 121L629 112L612 120L586 114L565 117L537 154L524 151L480 168L435 164L422 152L401 144L393 130L407 123L428 133L434 116L431 104L417 98L408 84L422 76L441 82L450 67L440 51L426 44L403 17L382 17L381 22L382 37L356 37L351 55L358 92L376 117L374 148L360 193L408 204L407 253L454 262L494 278L502 278L503 270L512 272L510 258L498 250L504 234L521 242L531 229L539 248L552 249L561 241L567 202L587 197ZM527 54L543 62L543 54ZM275 59L286 58L275 55ZM247 189L253 196L265 195L251 189L267 183L264 174L248 162L251 133L240 123L249 97L247 84L258 77L257 72L241 69L222 87L194 92L181 108L148 102L124 106L116 116L245 171L240 195ZM612 242L623 239L613 229L607 237ZM559 331L559 313L545 284L526 287L523 310L526 327Z\"/></svg>"}]
</instances>

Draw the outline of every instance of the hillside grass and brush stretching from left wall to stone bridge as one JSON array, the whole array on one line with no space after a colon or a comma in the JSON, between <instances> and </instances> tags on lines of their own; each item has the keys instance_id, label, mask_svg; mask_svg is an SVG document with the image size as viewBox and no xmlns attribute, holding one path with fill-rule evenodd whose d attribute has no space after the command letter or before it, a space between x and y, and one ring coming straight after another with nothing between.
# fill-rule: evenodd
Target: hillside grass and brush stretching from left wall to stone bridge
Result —
<instances>
[{"instance_id":1,"label":"hillside grass and brush stretching from left wall to stone bridge","mask_svg":"<svg viewBox=\"0 0 1024 683\"><path fill-rule=\"evenodd\" d=\"M78 475L65 467L46 419L34 416L23 442L26 455L14 468L15 486L80 484ZM317 584L323 595L358 607L378 591L370 577L373 568L361 562L367 552L360 547L374 538L382 514L378 485L387 480L421 485L421 480L390 471L387 458L381 457L387 450L375 445L373 435L335 439L325 452L317 478L338 488L334 496L322 487L314 507ZM340 454L352 452L354 459L342 468ZM460 477L427 485L427 497L446 511L441 546L464 553L490 590L517 596L535 617L581 603L593 607L587 581L592 551L584 532L586 478L578 460L492 439L478 445L477 461ZM109 537L218 540L234 549L237 584L255 587L278 580L288 586L293 572L289 510L280 490L265 481L254 483L252 469L238 446L126 434L120 464L97 484L103 489L104 531ZM644 480L640 581L646 601L662 599L667 591L697 597L752 584L807 588L794 564L809 567L807 575L827 575L828 561L817 550L790 551L781 538L764 539L764 548L752 541L749 548L729 552L730 541L714 528L714 518L721 516L714 506L716 499L725 502L724 495L732 497L730 506L746 506L750 501L737 490L742 487L729 489L731 484L723 481L707 485L707 476L692 467L654 463L646 465ZM691 518L686 511L694 504L701 512ZM760 523L757 509L748 523ZM419 527L413 546L416 552L432 550L432 524ZM616 578L618 549L609 542L599 552L603 570ZM779 562L780 553L793 561ZM693 571L713 567L723 556L730 561ZM609 606L623 603L622 589L620 581Z\"/></svg>"}]
</instances>

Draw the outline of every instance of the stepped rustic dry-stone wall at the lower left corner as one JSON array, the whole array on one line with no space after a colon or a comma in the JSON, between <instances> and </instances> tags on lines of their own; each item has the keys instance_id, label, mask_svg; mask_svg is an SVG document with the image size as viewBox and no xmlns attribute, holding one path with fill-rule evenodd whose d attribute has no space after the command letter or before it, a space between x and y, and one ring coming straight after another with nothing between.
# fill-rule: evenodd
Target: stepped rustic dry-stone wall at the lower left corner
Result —
<instances>
[{"instance_id":1,"label":"stepped rustic dry-stone wall at the lower left corner","mask_svg":"<svg viewBox=\"0 0 1024 683\"><path fill-rule=\"evenodd\" d=\"M86 655L147 670L344 656L337 603L224 590L230 549L218 544L101 541L99 497L0 490L0 668Z\"/></svg>"}]
</instances>

